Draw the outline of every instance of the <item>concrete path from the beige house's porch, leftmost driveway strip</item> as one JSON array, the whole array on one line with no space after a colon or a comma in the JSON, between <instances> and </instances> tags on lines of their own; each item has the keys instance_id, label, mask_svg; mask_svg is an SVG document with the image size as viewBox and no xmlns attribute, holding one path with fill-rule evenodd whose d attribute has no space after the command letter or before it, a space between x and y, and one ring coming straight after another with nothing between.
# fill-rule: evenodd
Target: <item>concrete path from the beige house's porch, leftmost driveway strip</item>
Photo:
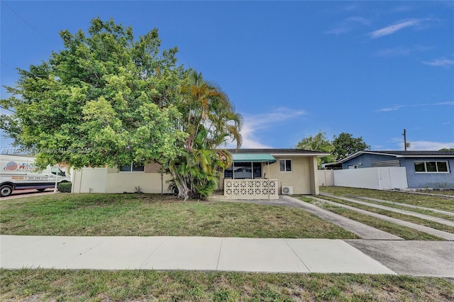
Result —
<instances>
[{"instance_id":1,"label":"concrete path from the beige house's porch, leftmost driveway strip","mask_svg":"<svg viewBox=\"0 0 454 302\"><path fill-rule=\"evenodd\" d=\"M314 198L311 196L311 198ZM301 208L304 211L307 211L315 216L318 216L324 220L328 220L335 225L340 226L341 228L348 230L351 233L358 235L362 239L376 239L376 240L403 240L401 237L396 235L389 234L382 230L378 230L377 228L372 228L369 225L365 225L358 221L355 221L350 218L343 217L331 211L325 210L323 208L319 208L318 206L314 206L311 203L306 203L304 201L300 201L297 198L288 196L288 195L280 195L278 200L268 200L268 199L256 199L256 200L233 200L233 199L225 199L225 198L211 198L214 201L231 201L231 202L241 202L241 203L256 203L256 204L265 204L269 206L288 206L291 208ZM324 201L324 199L322 199Z\"/></svg>"}]
</instances>

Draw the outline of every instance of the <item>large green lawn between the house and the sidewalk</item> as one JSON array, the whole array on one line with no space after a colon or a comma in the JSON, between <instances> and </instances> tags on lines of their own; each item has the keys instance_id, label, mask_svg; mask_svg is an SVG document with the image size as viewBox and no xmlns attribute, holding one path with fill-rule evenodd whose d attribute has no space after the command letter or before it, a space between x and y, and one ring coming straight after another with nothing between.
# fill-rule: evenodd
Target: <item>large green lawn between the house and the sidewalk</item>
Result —
<instances>
[{"instance_id":1,"label":"large green lawn between the house and the sidewalk","mask_svg":"<svg viewBox=\"0 0 454 302\"><path fill-rule=\"evenodd\" d=\"M3 235L358 238L298 208L150 194L53 194L0 204Z\"/></svg>"}]
</instances>

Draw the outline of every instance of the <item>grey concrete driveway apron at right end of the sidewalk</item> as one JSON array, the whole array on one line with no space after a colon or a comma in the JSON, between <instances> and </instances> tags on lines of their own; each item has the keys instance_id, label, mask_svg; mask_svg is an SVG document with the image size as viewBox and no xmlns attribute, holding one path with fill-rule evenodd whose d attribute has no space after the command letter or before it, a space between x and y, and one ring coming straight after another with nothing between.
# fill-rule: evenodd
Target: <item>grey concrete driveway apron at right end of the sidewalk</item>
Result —
<instances>
[{"instance_id":1,"label":"grey concrete driveway apron at right end of the sidewalk","mask_svg":"<svg viewBox=\"0 0 454 302\"><path fill-rule=\"evenodd\" d=\"M454 242L345 240L397 274L454 277Z\"/></svg>"}]
</instances>

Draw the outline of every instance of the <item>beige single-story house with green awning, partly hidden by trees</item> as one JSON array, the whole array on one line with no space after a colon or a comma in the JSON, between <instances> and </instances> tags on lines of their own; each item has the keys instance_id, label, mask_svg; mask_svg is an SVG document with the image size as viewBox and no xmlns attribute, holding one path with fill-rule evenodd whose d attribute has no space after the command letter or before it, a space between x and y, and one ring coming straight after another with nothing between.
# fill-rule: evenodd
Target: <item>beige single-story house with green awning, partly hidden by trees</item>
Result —
<instances>
[{"instance_id":1,"label":"beige single-story house with green awning, partly hidden by trees","mask_svg":"<svg viewBox=\"0 0 454 302\"><path fill-rule=\"evenodd\" d=\"M319 194L317 157L326 152L299 149L229 150L233 165L220 175L218 189L233 198L277 197L284 194ZM143 193L170 193L159 164L117 168L83 168L73 172L73 193L133 193L140 186ZM227 184L225 188L225 184ZM231 188L231 189L228 189ZM245 195L244 195L245 194Z\"/></svg>"}]
</instances>

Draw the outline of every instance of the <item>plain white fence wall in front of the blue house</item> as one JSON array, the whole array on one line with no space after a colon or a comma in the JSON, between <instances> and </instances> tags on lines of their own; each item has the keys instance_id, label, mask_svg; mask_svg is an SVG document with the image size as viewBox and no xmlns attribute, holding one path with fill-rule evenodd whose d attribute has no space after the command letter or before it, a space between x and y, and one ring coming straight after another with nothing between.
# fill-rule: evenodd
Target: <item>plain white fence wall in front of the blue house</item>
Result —
<instances>
[{"instance_id":1,"label":"plain white fence wall in front of the blue house","mask_svg":"<svg viewBox=\"0 0 454 302\"><path fill-rule=\"evenodd\" d=\"M364 189L406 189L405 167L375 167L334 170L335 186Z\"/></svg>"}]
</instances>

